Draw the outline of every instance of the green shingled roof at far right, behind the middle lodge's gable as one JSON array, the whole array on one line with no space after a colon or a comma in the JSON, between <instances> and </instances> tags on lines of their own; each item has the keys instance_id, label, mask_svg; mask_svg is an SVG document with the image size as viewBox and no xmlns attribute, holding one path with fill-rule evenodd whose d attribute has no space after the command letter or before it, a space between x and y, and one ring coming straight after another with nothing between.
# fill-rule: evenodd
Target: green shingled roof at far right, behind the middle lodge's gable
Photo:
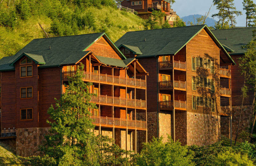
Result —
<instances>
[{"instance_id":1,"label":"green shingled roof at far right, behind the middle lodge's gable","mask_svg":"<svg viewBox=\"0 0 256 166\"><path fill-rule=\"evenodd\" d=\"M230 55L237 55L244 54L246 51L242 49L242 46L252 40L252 30L256 30L256 27L212 30L212 33L222 45L234 50L234 52L229 53Z\"/></svg>"}]
</instances>

